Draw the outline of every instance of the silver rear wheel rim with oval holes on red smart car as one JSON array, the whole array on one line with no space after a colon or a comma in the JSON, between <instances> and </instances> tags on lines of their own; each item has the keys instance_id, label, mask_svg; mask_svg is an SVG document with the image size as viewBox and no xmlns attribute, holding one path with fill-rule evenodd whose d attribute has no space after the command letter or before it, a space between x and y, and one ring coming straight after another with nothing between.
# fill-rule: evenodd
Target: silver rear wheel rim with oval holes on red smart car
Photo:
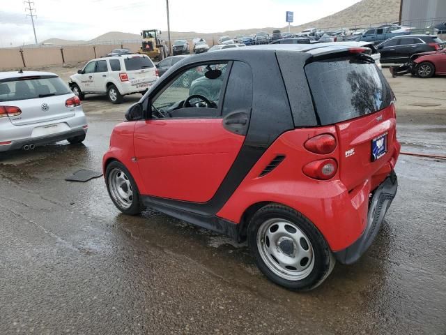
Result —
<instances>
[{"instance_id":1,"label":"silver rear wheel rim with oval holes on red smart car","mask_svg":"<svg viewBox=\"0 0 446 335\"><path fill-rule=\"evenodd\" d=\"M268 269L286 280L300 281L314 268L313 246L307 235L283 218L271 218L261 224L257 248Z\"/></svg>"}]
</instances>

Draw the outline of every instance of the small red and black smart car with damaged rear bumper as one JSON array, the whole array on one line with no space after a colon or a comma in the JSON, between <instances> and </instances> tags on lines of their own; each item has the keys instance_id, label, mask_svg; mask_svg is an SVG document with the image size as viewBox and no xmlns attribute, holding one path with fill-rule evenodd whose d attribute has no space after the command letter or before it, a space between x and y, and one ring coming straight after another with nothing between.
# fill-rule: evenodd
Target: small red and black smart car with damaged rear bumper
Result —
<instances>
[{"instance_id":1,"label":"small red and black smart car with damaged rear bumper","mask_svg":"<svg viewBox=\"0 0 446 335\"><path fill-rule=\"evenodd\" d=\"M367 250L397 193L394 95L369 51L263 45L180 61L114 128L114 204L247 239L271 281L315 288Z\"/></svg>"}]
</instances>

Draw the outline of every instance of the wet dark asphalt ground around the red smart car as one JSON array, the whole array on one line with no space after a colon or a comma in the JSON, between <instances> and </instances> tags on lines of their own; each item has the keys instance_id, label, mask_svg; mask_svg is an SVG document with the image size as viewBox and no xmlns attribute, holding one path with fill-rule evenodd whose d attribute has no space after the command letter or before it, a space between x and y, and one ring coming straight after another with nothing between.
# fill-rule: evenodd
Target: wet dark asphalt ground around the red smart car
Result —
<instances>
[{"instance_id":1,"label":"wet dark asphalt ground around the red smart car","mask_svg":"<svg viewBox=\"0 0 446 335\"><path fill-rule=\"evenodd\" d=\"M84 145L0 154L0 334L446 334L446 161L400 156L369 251L289 292L245 244L151 210L124 216L102 178L64 180L100 170L138 99L87 98ZM445 155L446 122L398 131L403 151Z\"/></svg>"}]
</instances>

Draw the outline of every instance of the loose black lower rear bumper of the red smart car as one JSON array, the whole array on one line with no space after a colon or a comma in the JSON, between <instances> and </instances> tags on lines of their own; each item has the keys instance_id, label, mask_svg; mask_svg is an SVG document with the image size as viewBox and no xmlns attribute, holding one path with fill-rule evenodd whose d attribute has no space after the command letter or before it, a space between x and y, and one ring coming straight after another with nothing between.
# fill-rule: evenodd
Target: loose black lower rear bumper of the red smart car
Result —
<instances>
[{"instance_id":1,"label":"loose black lower rear bumper of the red smart car","mask_svg":"<svg viewBox=\"0 0 446 335\"><path fill-rule=\"evenodd\" d=\"M367 225L362 235L353 244L341 251L334 252L336 259L342 264L352 264L359 260L374 241L384 216L389 209L392 200L397 194L397 174L392 170L389 176L376 188L369 204Z\"/></svg>"}]
</instances>

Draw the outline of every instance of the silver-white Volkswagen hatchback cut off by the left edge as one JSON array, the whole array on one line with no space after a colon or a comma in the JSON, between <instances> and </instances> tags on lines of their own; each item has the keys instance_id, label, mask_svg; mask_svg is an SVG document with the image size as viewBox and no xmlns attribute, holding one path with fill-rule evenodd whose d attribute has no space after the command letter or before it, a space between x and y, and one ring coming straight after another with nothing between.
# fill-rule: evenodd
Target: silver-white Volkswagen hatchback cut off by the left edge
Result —
<instances>
[{"instance_id":1,"label":"silver-white Volkswagen hatchback cut off by the left edge","mask_svg":"<svg viewBox=\"0 0 446 335\"><path fill-rule=\"evenodd\" d=\"M85 139L79 98L54 73L0 72L0 151Z\"/></svg>"}]
</instances>

